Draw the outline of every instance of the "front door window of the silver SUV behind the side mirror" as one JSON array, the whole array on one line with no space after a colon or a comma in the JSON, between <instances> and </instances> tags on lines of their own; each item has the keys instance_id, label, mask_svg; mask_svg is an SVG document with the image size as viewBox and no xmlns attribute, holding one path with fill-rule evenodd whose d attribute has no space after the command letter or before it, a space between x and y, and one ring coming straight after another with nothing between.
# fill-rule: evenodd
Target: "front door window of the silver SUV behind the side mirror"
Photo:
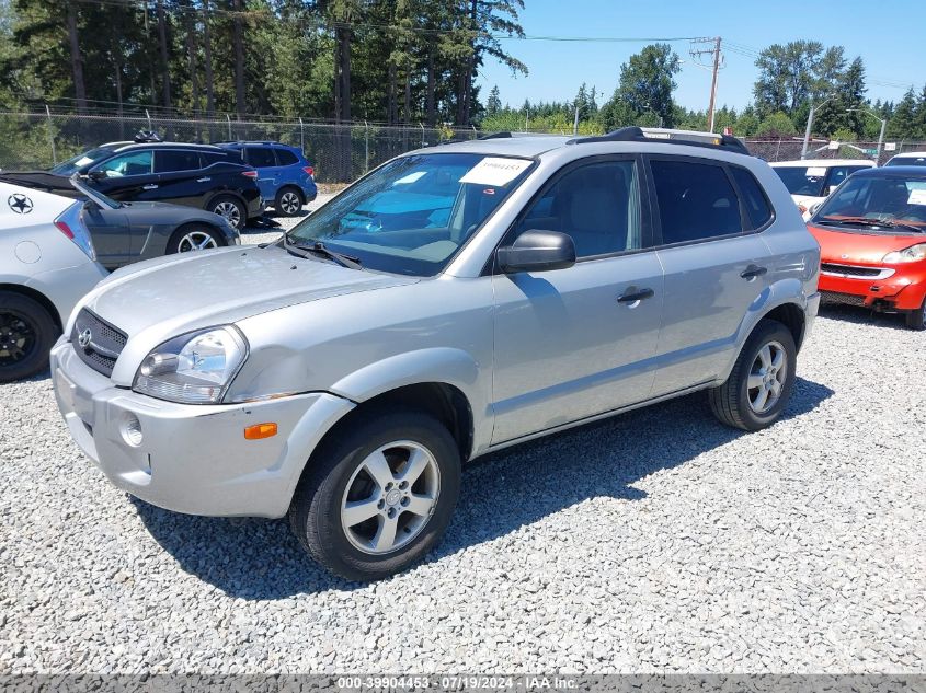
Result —
<instances>
[{"instance_id":1,"label":"front door window of the silver SUV behind the side mirror","mask_svg":"<svg viewBox=\"0 0 926 693\"><path fill-rule=\"evenodd\" d=\"M568 233L576 257L642 247L637 165L603 161L567 172L530 205L516 231L533 229Z\"/></svg>"}]
</instances>

